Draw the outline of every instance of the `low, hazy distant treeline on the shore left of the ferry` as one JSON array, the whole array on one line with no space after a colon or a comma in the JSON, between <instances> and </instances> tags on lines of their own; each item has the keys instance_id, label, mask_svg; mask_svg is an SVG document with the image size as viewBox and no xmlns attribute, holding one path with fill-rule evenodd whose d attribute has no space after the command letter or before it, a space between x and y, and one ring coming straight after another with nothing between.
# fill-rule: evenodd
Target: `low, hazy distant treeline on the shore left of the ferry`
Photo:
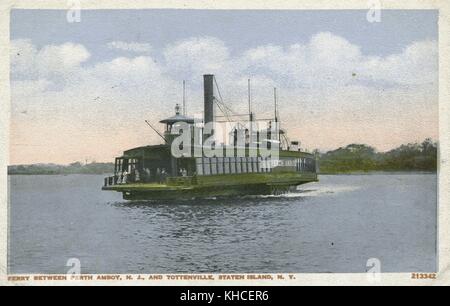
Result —
<instances>
[{"instance_id":1,"label":"low, hazy distant treeline on the shore left of the ferry","mask_svg":"<svg viewBox=\"0 0 450 306\"><path fill-rule=\"evenodd\" d=\"M55 164L17 165L9 166L8 174L106 174L114 172L113 163L90 163L83 165L80 162L68 166Z\"/></svg>"}]
</instances>

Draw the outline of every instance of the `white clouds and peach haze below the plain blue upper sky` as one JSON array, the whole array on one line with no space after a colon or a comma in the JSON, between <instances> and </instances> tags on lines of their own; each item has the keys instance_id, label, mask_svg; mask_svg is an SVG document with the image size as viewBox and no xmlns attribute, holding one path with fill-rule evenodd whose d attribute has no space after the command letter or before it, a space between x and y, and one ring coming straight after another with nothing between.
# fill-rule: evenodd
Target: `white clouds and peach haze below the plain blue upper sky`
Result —
<instances>
[{"instance_id":1,"label":"white clouds and peach haze below the plain blue upper sky","mask_svg":"<svg viewBox=\"0 0 450 306\"><path fill-rule=\"evenodd\" d=\"M109 46L150 51L147 44ZM277 87L283 124L311 149L364 142L385 150L438 136L435 41L367 56L359 46L324 32L307 42L262 45L238 54L218 38L193 37L152 52L163 60L132 54L90 62L90 51L80 44L38 48L30 40L12 41L12 139L47 144L30 147L35 151L13 150L13 162L30 156L32 162L47 162L49 148L57 148L51 155L56 162L73 161L76 154L102 161L133 146L158 143L144 120L156 122L173 113L182 101L183 79L190 113L201 113L205 73L216 74L225 102L238 113L246 111L251 78L259 118L273 113Z\"/></svg>"}]
</instances>

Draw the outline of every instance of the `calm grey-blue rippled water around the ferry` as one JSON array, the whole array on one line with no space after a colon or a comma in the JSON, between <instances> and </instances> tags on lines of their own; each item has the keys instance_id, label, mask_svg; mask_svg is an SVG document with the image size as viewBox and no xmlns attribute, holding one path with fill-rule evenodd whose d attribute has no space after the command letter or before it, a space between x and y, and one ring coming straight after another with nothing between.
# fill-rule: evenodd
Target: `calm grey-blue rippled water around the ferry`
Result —
<instances>
[{"instance_id":1,"label":"calm grey-blue rippled water around the ferry","mask_svg":"<svg viewBox=\"0 0 450 306\"><path fill-rule=\"evenodd\" d=\"M279 197L126 202L103 176L10 177L10 273L436 270L436 175L321 176Z\"/></svg>"}]
</instances>

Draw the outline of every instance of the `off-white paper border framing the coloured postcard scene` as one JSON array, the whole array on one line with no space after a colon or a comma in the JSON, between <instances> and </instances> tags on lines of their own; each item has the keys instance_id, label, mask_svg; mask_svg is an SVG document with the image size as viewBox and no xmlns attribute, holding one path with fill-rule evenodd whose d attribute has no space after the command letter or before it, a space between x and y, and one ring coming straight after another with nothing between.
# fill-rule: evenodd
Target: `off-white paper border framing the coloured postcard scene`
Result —
<instances>
[{"instance_id":1,"label":"off-white paper border framing the coloured postcard scene","mask_svg":"<svg viewBox=\"0 0 450 306\"><path fill-rule=\"evenodd\" d=\"M68 9L68 1L58 0L2 0L0 4L0 45L9 46L10 9ZM81 1L82 9L368 9L367 0L326 1L242 1L223 0L103 0ZM411 273L382 274L381 282L370 282L366 274L295 274L289 281L29 281L9 282L7 267L8 187L9 161L9 48L0 49L0 285L448 285L450 263L450 3L448 0L397 0L382 2L383 9L439 9L439 110L440 158L439 165L439 273L437 280L413 280ZM148 277L148 275L142 275ZM31 275L31 277L33 277ZM137 277L136 275L134 277ZM125 278L123 276L123 278Z\"/></svg>"}]
</instances>

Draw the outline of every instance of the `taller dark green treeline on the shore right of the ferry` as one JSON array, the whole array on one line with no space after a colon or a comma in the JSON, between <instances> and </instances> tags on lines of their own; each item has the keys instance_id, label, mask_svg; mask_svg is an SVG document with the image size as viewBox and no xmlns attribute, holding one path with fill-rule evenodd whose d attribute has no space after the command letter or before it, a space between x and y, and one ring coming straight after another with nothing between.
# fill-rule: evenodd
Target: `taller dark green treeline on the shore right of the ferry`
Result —
<instances>
[{"instance_id":1,"label":"taller dark green treeline on the shore right of the ferry","mask_svg":"<svg viewBox=\"0 0 450 306\"><path fill-rule=\"evenodd\" d=\"M345 148L320 154L321 173L369 171L427 171L437 170L438 145L431 139L417 144L402 145L380 153L375 148L352 144Z\"/></svg>"}]
</instances>

